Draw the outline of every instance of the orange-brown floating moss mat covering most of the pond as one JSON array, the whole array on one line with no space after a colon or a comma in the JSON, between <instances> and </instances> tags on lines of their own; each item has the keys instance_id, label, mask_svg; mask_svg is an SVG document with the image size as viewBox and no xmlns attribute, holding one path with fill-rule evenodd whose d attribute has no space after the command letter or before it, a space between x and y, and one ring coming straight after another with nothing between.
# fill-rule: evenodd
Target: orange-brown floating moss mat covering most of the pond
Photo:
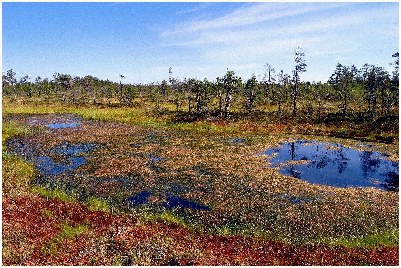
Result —
<instances>
[{"instance_id":1,"label":"orange-brown floating moss mat covering most of the pond","mask_svg":"<svg viewBox=\"0 0 401 268\"><path fill-rule=\"evenodd\" d=\"M29 118L22 116L19 120L29 123ZM60 120L52 115L42 118L46 124ZM292 242L316 239L317 235L351 238L398 226L398 192L310 184L278 173L277 168L269 167L270 158L260 154L283 140L298 138L341 143L360 151L375 150L397 159L398 148L394 145L369 143L374 145L371 148L364 146L366 142L320 136L233 137L149 131L85 120L80 123L80 127L52 130L40 139L19 138L18 144L11 141L9 146L16 152L30 148L33 155L47 155L56 162L57 157L49 150L62 142L102 144L90 154L83 153L87 162L74 171L93 178L94 191L105 193L113 186L124 194L148 191L148 201L166 201L166 194L179 196L211 207L212 222L259 225L276 232L279 222L280 232ZM152 162L151 156L162 160Z\"/></svg>"}]
</instances>

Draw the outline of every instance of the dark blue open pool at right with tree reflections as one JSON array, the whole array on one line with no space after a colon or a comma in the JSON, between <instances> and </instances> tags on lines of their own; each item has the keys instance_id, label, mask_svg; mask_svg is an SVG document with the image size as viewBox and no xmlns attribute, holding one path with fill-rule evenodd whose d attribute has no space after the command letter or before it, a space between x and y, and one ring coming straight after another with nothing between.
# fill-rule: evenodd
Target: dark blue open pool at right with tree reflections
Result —
<instances>
[{"instance_id":1,"label":"dark blue open pool at right with tree reflections","mask_svg":"<svg viewBox=\"0 0 401 268\"><path fill-rule=\"evenodd\" d=\"M324 148L326 146L336 149ZM282 168L279 172L309 183L399 190L399 163L389 160L388 154L298 139L295 142L281 142L279 147L264 152L268 155L273 153L277 153L277 156L269 159L271 166L279 166L287 160L308 160L307 164L279 166Z\"/></svg>"}]
</instances>

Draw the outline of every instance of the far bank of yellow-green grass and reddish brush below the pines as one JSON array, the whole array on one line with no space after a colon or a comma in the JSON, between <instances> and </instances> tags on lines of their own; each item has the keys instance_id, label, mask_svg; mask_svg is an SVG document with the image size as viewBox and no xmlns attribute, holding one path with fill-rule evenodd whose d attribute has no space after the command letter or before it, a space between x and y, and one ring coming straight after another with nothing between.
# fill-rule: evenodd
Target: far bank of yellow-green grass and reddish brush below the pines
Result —
<instances>
[{"instance_id":1,"label":"far bank of yellow-green grass and reddish brush below the pines","mask_svg":"<svg viewBox=\"0 0 401 268\"><path fill-rule=\"evenodd\" d=\"M139 100L137 103L138 105L128 108L90 104L76 106L56 101L44 103L39 100L18 103L3 101L3 113L75 114L84 119L130 124L153 130L319 134L398 143L399 121L395 116L383 116L374 122L363 122L360 118L363 112L355 112L343 122L340 114L333 114L331 120L317 120L304 115L293 116L290 112L279 114L275 107L248 114L243 112L238 104L233 104L231 118L205 120L201 115L177 113L170 103L162 103L159 106L152 102L140 103Z\"/></svg>"}]
</instances>

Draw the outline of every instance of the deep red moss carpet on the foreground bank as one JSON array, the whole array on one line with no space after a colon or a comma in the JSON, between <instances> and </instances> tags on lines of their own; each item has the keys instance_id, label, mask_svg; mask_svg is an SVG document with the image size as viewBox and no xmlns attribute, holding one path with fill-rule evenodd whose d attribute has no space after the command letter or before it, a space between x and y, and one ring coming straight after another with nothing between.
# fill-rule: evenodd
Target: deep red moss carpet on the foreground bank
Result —
<instances>
[{"instance_id":1,"label":"deep red moss carpet on the foreground bank","mask_svg":"<svg viewBox=\"0 0 401 268\"><path fill-rule=\"evenodd\" d=\"M44 210L51 211L47 217ZM69 221L71 225L87 223L99 237L111 237L114 226L124 222L123 216L93 211L78 204L61 202L56 199L45 199L38 196L20 197L16 200L3 200L2 207L3 238L6 233L25 230L24 238L27 246L33 247L32 256L24 260L24 265L78 265L91 264L89 258L96 256L97 265L109 264L103 256L88 253L79 256L87 249L85 234L81 238L67 241L57 256L44 254L47 242L61 231L60 223ZM163 233L163 236L174 239L174 245L181 248L190 246L201 248L205 256L199 260L191 256L183 256L178 263L170 263L165 258L158 265L392 265L399 264L399 251L396 247L346 249L329 247L324 244L290 246L270 240L255 241L251 238L233 236L199 236L191 234L187 229L174 223L165 225L150 223L131 227L113 239L113 247L124 250L124 246L144 242ZM173 244L172 244L173 245ZM18 245L16 245L18 246ZM174 246L173 246L174 247ZM178 250L178 249L175 249ZM79 257L78 257L79 256ZM3 260L3 265L17 264L12 260Z\"/></svg>"}]
</instances>

